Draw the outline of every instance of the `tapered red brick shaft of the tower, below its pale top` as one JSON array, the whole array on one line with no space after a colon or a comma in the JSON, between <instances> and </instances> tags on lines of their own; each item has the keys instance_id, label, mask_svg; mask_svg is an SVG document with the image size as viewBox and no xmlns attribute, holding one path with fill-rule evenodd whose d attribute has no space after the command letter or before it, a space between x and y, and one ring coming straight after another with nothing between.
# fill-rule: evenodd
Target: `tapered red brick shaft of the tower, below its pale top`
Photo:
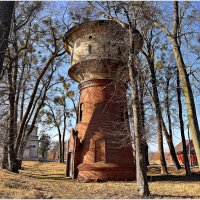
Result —
<instances>
[{"instance_id":1,"label":"tapered red brick shaft of the tower, below its pale top","mask_svg":"<svg viewBox=\"0 0 200 200\"><path fill-rule=\"evenodd\" d=\"M75 161L75 168L79 169L78 178L134 179L129 124L123 115L127 109L126 86L113 84L110 80L84 83L80 86L80 104L83 105L82 121L77 124L80 160ZM98 140L105 141L105 149L101 149L105 160L101 162L95 162L95 143ZM119 172L120 175L116 176Z\"/></svg>"}]
</instances>

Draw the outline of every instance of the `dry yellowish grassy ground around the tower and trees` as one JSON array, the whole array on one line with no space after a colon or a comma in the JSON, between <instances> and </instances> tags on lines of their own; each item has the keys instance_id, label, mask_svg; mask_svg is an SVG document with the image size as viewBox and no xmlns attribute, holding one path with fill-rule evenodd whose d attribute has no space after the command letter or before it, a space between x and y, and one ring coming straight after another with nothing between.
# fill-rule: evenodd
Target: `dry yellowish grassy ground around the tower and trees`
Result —
<instances>
[{"instance_id":1,"label":"dry yellowish grassy ground around the tower and trees","mask_svg":"<svg viewBox=\"0 0 200 200\"><path fill-rule=\"evenodd\" d=\"M0 170L0 198L102 199L137 198L135 182L80 183L64 176L65 165L25 161L24 170L13 174ZM200 198L200 175L184 177L184 170L170 168L170 175L160 176L160 168L149 168L152 198Z\"/></svg>"}]
</instances>

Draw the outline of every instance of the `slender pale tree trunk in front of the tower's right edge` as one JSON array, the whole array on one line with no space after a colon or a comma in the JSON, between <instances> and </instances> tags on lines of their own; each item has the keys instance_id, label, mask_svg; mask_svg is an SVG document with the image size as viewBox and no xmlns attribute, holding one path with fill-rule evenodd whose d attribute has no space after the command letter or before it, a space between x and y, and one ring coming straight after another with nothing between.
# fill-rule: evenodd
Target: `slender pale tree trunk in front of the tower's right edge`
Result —
<instances>
[{"instance_id":1,"label":"slender pale tree trunk in front of the tower's right edge","mask_svg":"<svg viewBox=\"0 0 200 200\"><path fill-rule=\"evenodd\" d=\"M130 84L132 87L132 98L133 98L133 116L134 116L134 134L135 134L135 151L136 151L136 180L137 180L137 191L141 197L149 196L149 187L147 182L147 172L146 172L146 161L145 161L145 151L144 145L141 139L143 138L143 130L141 123L141 113L140 113L140 102L139 102L139 92L138 92L138 80L137 74L134 66L134 45L132 32L132 27L129 30L130 34L130 49L129 49L129 59L128 59L128 71ZM134 71L135 70L135 71ZM138 106L139 105L139 106Z\"/></svg>"}]
</instances>

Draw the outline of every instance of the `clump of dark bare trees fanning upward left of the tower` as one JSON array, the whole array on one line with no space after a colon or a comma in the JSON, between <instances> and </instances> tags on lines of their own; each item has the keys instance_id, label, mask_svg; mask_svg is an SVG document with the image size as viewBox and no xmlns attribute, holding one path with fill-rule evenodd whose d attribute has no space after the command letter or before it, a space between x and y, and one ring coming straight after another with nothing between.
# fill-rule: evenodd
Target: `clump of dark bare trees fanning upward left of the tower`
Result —
<instances>
[{"instance_id":1,"label":"clump of dark bare trees fanning upward left of the tower","mask_svg":"<svg viewBox=\"0 0 200 200\"><path fill-rule=\"evenodd\" d=\"M13 17L11 45L5 60L10 111L9 169L13 172L18 172L19 160L23 157L29 135L37 123L46 93L51 88L52 76L65 53L61 44L62 36L57 32L55 21L52 22L51 16L37 18L43 4L19 2L17 5ZM41 27L37 20L43 20ZM22 39L23 34L25 40ZM35 49L41 51L41 48L46 48L45 56L36 54Z\"/></svg>"}]
</instances>

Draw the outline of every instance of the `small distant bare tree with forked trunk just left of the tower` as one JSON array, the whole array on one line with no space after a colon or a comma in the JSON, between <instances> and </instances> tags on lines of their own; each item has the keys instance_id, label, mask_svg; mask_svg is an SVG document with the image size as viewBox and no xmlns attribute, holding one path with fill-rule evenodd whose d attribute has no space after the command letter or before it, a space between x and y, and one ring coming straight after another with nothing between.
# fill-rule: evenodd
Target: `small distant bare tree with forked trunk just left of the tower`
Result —
<instances>
[{"instance_id":1,"label":"small distant bare tree with forked trunk just left of the tower","mask_svg":"<svg viewBox=\"0 0 200 200\"><path fill-rule=\"evenodd\" d=\"M67 130L68 120L73 117L73 112L68 108L68 98L73 99L74 92L69 89L70 85L63 80L61 87L56 87L53 93L48 95L45 103L45 108L42 110L45 119L42 120L43 124L56 128L58 132L59 144L59 159L64 162L65 154L65 135ZM44 117L43 117L44 118Z\"/></svg>"}]
</instances>

